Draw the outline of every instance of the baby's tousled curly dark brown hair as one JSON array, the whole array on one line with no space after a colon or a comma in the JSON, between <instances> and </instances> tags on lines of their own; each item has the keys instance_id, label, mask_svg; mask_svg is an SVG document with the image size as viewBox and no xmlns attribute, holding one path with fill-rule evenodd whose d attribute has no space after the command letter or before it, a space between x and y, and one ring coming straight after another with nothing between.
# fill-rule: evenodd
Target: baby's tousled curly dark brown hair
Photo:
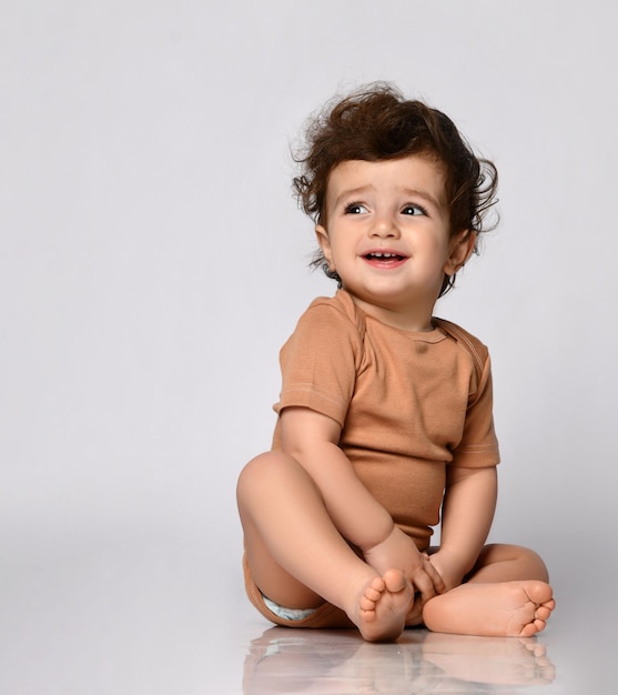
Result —
<instances>
[{"instance_id":1,"label":"baby's tousled curly dark brown hair","mask_svg":"<svg viewBox=\"0 0 618 695\"><path fill-rule=\"evenodd\" d=\"M293 190L302 210L316 224L326 216L326 187L331 171L344 161L383 161L423 154L436 159L445 174L450 234L463 231L478 235L493 229L486 212L496 202L498 174L495 165L475 155L453 121L425 103L406 100L397 88L376 82L343 99L335 99L314 117L305 132L305 145L294 155L301 165ZM312 265L340 283L317 251ZM455 282L445 275L440 296Z\"/></svg>"}]
</instances>

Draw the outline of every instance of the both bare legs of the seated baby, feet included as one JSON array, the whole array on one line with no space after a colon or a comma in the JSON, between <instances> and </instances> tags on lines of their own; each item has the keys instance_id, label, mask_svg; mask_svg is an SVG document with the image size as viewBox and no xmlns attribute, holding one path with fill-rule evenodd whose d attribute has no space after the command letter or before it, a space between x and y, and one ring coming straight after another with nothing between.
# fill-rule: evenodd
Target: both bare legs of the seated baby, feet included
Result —
<instances>
[{"instance_id":1,"label":"both bare legs of the seated baby, feet included","mask_svg":"<svg viewBox=\"0 0 618 695\"><path fill-rule=\"evenodd\" d=\"M409 583L396 567L381 576L356 555L294 459L269 452L251 461L239 479L237 501L247 564L265 596L290 608L327 601L369 642L399 636ZM466 584L425 604L423 621L435 632L528 637L545 627L554 605L538 555L489 545Z\"/></svg>"}]
</instances>

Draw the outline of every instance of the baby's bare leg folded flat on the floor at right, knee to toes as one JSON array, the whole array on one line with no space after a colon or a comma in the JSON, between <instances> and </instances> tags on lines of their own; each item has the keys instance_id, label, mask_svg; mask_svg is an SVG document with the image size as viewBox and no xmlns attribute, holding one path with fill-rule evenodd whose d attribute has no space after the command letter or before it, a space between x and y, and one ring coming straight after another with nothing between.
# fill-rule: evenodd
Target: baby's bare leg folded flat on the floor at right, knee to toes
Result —
<instances>
[{"instance_id":1,"label":"baby's bare leg folded flat on the floor at right, knee to toes","mask_svg":"<svg viewBox=\"0 0 618 695\"><path fill-rule=\"evenodd\" d=\"M556 602L540 557L524 547L488 545L469 581L427 602L429 629L479 636L531 637Z\"/></svg>"}]
</instances>

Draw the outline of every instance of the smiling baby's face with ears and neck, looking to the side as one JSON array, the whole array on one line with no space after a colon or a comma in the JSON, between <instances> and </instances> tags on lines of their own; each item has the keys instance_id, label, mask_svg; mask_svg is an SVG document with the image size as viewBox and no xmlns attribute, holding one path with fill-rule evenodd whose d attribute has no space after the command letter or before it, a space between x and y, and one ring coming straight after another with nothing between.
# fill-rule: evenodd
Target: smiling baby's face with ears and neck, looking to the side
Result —
<instances>
[{"instance_id":1,"label":"smiling baby's face with ears and neck, looking to the side","mask_svg":"<svg viewBox=\"0 0 618 695\"><path fill-rule=\"evenodd\" d=\"M422 155L335 167L316 233L354 300L411 330L429 328L444 274L454 274L474 244L473 234L450 238L443 172Z\"/></svg>"}]
</instances>

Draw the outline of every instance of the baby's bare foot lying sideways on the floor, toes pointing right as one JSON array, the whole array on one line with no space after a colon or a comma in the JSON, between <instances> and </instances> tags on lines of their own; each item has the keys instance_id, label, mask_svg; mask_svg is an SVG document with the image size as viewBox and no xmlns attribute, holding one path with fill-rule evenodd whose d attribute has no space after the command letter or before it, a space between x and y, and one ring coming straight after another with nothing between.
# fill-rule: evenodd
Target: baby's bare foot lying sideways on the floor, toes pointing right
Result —
<instances>
[{"instance_id":1,"label":"baby's bare foot lying sideways on the floor, toes pointing right","mask_svg":"<svg viewBox=\"0 0 618 695\"><path fill-rule=\"evenodd\" d=\"M485 637L531 637L545 629L556 602L545 582L470 582L435 596L423 611L434 631Z\"/></svg>"}]
</instances>

